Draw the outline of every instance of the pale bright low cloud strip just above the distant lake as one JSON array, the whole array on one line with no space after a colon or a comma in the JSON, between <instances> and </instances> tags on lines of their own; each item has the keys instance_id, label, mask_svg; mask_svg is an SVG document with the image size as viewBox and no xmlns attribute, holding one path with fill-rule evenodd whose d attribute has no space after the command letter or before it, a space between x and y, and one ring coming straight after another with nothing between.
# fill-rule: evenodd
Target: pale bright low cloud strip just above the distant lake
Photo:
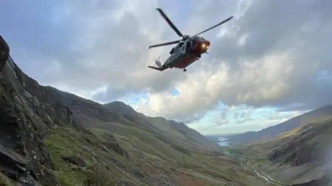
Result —
<instances>
[{"instance_id":1,"label":"pale bright low cloud strip just above the distant lake","mask_svg":"<svg viewBox=\"0 0 332 186\"><path fill-rule=\"evenodd\" d=\"M188 126L202 134L234 134L262 130L304 112L308 111L279 112L276 108L255 109L246 105L221 107Z\"/></svg>"}]
</instances>

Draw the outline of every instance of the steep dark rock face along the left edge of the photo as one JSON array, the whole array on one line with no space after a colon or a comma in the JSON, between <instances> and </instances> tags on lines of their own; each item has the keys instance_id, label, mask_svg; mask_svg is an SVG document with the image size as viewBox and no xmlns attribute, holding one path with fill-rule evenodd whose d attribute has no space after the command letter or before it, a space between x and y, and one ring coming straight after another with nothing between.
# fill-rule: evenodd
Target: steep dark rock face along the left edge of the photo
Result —
<instances>
[{"instance_id":1,"label":"steep dark rock face along the left edge of the photo","mask_svg":"<svg viewBox=\"0 0 332 186\"><path fill-rule=\"evenodd\" d=\"M58 185L49 173L53 163L43 142L47 127L55 125L43 110L54 111L54 107L33 96L37 82L25 76L10 56L0 75L1 172L22 184L38 180L42 185ZM60 119L70 121L68 115Z\"/></svg>"}]
</instances>

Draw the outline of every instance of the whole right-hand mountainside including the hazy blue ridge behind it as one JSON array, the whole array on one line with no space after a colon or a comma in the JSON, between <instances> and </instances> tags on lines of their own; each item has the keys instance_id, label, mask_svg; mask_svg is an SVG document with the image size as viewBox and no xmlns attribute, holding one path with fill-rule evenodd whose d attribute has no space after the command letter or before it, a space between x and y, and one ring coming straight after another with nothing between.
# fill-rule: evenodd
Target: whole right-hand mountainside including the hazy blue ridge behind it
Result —
<instances>
[{"instance_id":1,"label":"whole right-hand mountainside including the hazy blue ridge behind it","mask_svg":"<svg viewBox=\"0 0 332 186\"><path fill-rule=\"evenodd\" d=\"M252 165L289 185L332 185L332 106L230 137Z\"/></svg>"}]
</instances>

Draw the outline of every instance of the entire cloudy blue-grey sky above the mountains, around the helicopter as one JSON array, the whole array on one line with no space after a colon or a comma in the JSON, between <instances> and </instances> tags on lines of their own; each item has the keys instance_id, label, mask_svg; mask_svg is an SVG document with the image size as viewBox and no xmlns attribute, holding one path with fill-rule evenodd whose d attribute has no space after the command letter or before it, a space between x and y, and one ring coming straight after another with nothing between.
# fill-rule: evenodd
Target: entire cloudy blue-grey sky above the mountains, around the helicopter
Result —
<instances>
[{"instance_id":1,"label":"entire cloudy blue-grey sky above the mountains, around the helicopter","mask_svg":"<svg viewBox=\"0 0 332 186\"><path fill-rule=\"evenodd\" d=\"M201 134L261 130L332 103L332 1L1 1L0 34L19 67L99 103L124 101ZM147 68L183 34L210 54L182 70Z\"/></svg>"}]
</instances>

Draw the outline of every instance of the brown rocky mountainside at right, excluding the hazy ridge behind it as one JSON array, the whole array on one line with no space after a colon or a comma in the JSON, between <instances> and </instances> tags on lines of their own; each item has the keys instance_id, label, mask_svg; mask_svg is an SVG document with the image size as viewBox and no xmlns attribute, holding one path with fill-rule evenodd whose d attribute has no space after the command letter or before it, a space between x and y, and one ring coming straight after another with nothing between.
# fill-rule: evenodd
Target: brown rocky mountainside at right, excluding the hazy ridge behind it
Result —
<instances>
[{"instance_id":1,"label":"brown rocky mountainside at right, excluding the hazy ridge behind it","mask_svg":"<svg viewBox=\"0 0 332 186\"><path fill-rule=\"evenodd\" d=\"M332 185L332 119L253 143L243 153L255 166L284 183Z\"/></svg>"}]
</instances>

